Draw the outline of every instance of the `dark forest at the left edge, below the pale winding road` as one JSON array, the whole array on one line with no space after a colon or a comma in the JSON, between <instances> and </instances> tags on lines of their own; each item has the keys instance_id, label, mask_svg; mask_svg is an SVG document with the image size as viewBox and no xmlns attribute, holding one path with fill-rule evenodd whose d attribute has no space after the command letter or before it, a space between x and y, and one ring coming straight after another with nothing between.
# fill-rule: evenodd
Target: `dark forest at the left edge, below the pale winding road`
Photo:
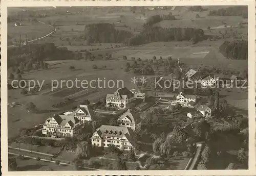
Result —
<instances>
[{"instance_id":1,"label":"dark forest at the left edge, below the pale winding road","mask_svg":"<svg viewBox=\"0 0 256 176\"><path fill-rule=\"evenodd\" d=\"M57 48L54 43L28 44L19 47L8 47L7 66L21 66L23 69L33 69L33 63L44 65L46 60L70 59L72 52ZM39 65L37 64L37 65Z\"/></svg>"}]
</instances>

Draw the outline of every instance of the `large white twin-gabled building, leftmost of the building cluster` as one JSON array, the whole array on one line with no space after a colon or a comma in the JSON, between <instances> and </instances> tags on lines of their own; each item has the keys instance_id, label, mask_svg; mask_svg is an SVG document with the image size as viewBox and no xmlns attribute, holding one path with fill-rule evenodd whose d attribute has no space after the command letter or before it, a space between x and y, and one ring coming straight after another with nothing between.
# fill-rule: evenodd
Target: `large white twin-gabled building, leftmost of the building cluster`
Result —
<instances>
[{"instance_id":1,"label":"large white twin-gabled building, leftmost of the building cluster","mask_svg":"<svg viewBox=\"0 0 256 176\"><path fill-rule=\"evenodd\" d=\"M80 132L80 121L73 115L54 115L46 120L42 134L72 137Z\"/></svg>"}]
</instances>

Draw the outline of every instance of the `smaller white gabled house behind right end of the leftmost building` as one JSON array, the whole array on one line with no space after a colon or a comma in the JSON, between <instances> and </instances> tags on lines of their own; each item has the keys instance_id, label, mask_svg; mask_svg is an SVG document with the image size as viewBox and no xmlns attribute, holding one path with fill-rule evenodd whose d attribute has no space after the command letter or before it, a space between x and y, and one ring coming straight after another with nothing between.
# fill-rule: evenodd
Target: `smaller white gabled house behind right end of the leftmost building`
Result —
<instances>
[{"instance_id":1,"label":"smaller white gabled house behind right end of the leftmost building","mask_svg":"<svg viewBox=\"0 0 256 176\"><path fill-rule=\"evenodd\" d=\"M94 112L92 108L87 105L79 105L79 107L74 111L74 117L84 123L86 121L91 121L94 118Z\"/></svg>"}]
</instances>

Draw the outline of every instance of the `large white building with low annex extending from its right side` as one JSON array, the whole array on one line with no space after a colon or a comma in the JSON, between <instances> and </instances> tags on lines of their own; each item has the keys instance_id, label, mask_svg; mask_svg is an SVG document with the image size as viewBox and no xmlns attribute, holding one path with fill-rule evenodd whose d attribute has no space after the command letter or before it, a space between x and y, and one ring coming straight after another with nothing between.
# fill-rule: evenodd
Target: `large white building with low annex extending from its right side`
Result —
<instances>
[{"instance_id":1,"label":"large white building with low annex extending from its right side","mask_svg":"<svg viewBox=\"0 0 256 176\"><path fill-rule=\"evenodd\" d=\"M131 92L126 87L120 88L113 94L106 95L106 106L125 109L135 99L145 100L144 93Z\"/></svg>"}]
</instances>

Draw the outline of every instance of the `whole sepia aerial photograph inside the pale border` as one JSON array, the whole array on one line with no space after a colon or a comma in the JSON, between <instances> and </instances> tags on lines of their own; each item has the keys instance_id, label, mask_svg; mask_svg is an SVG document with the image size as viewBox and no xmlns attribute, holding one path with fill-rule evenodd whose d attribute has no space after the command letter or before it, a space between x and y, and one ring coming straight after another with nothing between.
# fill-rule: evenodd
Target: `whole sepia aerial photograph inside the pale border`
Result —
<instances>
[{"instance_id":1,"label":"whole sepia aerial photograph inside the pale border","mask_svg":"<svg viewBox=\"0 0 256 176\"><path fill-rule=\"evenodd\" d=\"M8 170L248 169L248 7L8 7Z\"/></svg>"}]
</instances>

